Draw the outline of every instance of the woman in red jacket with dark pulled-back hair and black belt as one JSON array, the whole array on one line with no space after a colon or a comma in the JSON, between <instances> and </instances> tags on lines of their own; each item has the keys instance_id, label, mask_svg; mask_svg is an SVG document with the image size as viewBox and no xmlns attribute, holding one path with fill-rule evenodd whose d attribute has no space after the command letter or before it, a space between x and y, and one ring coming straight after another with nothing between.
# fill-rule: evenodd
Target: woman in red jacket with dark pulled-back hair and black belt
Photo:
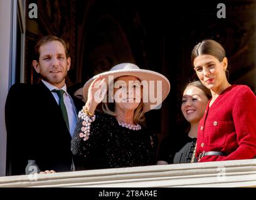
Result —
<instances>
[{"instance_id":1,"label":"woman in red jacket with dark pulled-back hair and black belt","mask_svg":"<svg viewBox=\"0 0 256 200\"><path fill-rule=\"evenodd\" d=\"M198 126L196 156L199 161L255 158L255 94L248 86L228 83L228 59L218 42L198 43L191 61L201 83L212 95Z\"/></svg>"}]
</instances>

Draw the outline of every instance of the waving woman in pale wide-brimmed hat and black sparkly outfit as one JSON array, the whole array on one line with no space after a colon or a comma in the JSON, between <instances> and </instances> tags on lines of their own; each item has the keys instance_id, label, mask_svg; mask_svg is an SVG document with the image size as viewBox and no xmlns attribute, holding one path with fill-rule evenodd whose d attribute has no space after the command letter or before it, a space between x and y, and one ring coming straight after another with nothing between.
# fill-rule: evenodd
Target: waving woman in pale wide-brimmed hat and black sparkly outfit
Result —
<instances>
[{"instance_id":1,"label":"waving woman in pale wide-brimmed hat and black sparkly outfit","mask_svg":"<svg viewBox=\"0 0 256 200\"><path fill-rule=\"evenodd\" d=\"M71 147L75 160L82 162L79 169L156 164L156 134L141 122L144 113L161 106L169 90L162 74L131 63L118 64L87 81L83 86L87 102L78 114ZM103 113L95 111L100 103Z\"/></svg>"}]
</instances>

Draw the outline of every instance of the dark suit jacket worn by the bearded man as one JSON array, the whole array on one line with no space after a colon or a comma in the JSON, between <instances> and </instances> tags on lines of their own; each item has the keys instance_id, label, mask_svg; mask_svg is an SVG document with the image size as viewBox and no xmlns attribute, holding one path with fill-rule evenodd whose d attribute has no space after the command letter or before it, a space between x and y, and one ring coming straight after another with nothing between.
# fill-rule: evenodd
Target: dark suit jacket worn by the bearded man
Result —
<instances>
[{"instance_id":1,"label":"dark suit jacket worn by the bearded man","mask_svg":"<svg viewBox=\"0 0 256 200\"><path fill-rule=\"evenodd\" d=\"M71 136L45 84L14 84L6 100L7 175L24 174L28 159L41 171L70 171Z\"/></svg>"}]
</instances>

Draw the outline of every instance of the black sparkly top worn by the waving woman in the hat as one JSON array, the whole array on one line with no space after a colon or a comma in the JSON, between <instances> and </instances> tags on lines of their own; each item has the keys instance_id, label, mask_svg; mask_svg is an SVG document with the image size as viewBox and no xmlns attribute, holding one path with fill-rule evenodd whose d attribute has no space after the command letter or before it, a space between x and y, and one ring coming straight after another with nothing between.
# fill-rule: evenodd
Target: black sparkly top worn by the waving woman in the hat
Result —
<instances>
[{"instance_id":1,"label":"black sparkly top worn by the waving woman in the hat","mask_svg":"<svg viewBox=\"0 0 256 200\"><path fill-rule=\"evenodd\" d=\"M79 136L83 119L78 118L71 144L76 170L156 164L156 134L144 126L138 131L124 128L109 114L95 116L86 141Z\"/></svg>"}]
</instances>

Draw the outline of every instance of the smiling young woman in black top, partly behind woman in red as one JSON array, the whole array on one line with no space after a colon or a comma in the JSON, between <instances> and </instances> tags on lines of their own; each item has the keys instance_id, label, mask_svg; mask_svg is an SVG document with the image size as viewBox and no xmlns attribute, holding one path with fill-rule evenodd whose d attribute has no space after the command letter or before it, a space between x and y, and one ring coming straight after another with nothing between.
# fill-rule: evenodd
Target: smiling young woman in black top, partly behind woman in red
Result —
<instances>
[{"instance_id":1,"label":"smiling young woman in black top, partly behind woman in red","mask_svg":"<svg viewBox=\"0 0 256 200\"><path fill-rule=\"evenodd\" d=\"M161 142L157 164L195 163L198 123L205 113L210 90L200 81L189 83L183 92L181 111L190 129L179 137L167 136ZM179 133L178 133L179 134Z\"/></svg>"}]
</instances>

